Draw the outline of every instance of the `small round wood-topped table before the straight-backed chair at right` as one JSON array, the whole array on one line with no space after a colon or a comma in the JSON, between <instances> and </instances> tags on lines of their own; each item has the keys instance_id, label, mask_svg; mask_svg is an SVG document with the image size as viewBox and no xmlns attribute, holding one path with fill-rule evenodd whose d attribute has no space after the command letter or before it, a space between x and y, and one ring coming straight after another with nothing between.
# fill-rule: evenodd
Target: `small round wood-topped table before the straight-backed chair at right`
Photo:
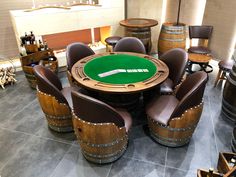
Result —
<instances>
[{"instance_id":1,"label":"small round wood-topped table before the straight-backed chair at right","mask_svg":"<svg viewBox=\"0 0 236 177\"><path fill-rule=\"evenodd\" d=\"M192 65L198 64L201 67L201 71L205 71L206 73L210 73L213 71L211 65L209 65L209 61L212 59L211 55L203 55L203 54L196 54L196 53L189 53L188 54L188 67L187 72L193 73ZM209 68L207 70L207 68Z\"/></svg>"}]
</instances>

